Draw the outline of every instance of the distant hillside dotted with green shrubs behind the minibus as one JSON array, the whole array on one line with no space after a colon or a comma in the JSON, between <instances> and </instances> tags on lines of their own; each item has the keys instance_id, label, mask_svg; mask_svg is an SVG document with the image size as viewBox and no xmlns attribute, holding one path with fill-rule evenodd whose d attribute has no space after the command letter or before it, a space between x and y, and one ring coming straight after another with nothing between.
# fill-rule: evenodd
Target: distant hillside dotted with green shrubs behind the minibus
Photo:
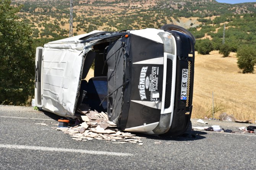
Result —
<instances>
[{"instance_id":1,"label":"distant hillside dotted with green shrubs behind the minibus","mask_svg":"<svg viewBox=\"0 0 256 170\"><path fill-rule=\"evenodd\" d=\"M13 0L12 2L24 5L20 16L31 23L34 30L33 37L52 38L68 35L70 1ZM232 5L218 3L215 0L74 0L73 6L75 35L95 29L116 31L160 28L164 24L174 23L187 29L202 27L202 30L195 33L197 38L202 38L206 33L220 28L223 23L233 22L234 16L239 18L244 14L253 14L254 17L256 11L256 3ZM206 30L205 25L211 28L207 27ZM196 32L194 29L191 31Z\"/></svg>"}]
</instances>

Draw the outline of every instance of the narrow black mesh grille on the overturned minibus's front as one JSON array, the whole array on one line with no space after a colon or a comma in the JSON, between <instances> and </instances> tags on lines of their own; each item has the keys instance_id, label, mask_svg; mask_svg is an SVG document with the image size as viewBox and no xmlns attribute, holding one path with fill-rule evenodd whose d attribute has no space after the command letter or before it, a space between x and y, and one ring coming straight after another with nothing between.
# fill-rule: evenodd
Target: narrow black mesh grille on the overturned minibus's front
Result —
<instances>
[{"instance_id":1,"label":"narrow black mesh grille on the overturned minibus's front","mask_svg":"<svg viewBox=\"0 0 256 170\"><path fill-rule=\"evenodd\" d=\"M170 105L171 105L171 95L172 95L172 60L167 59L164 108L169 108L170 107Z\"/></svg>"}]
</instances>

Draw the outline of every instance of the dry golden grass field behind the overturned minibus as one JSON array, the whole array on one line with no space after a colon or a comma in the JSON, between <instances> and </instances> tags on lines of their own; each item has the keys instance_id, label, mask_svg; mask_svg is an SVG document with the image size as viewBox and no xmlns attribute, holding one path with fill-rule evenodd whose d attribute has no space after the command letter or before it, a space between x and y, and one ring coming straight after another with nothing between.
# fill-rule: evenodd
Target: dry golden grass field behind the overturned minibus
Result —
<instances>
[{"instance_id":1,"label":"dry golden grass field behind the overturned minibus","mask_svg":"<svg viewBox=\"0 0 256 170\"><path fill-rule=\"evenodd\" d=\"M86 80L93 75L90 69ZM225 58L218 51L196 52L192 118L212 118L211 110L207 112L212 108L212 92L215 110L220 110L214 118L226 112L236 119L256 121L256 74L242 74L234 52Z\"/></svg>"}]
</instances>

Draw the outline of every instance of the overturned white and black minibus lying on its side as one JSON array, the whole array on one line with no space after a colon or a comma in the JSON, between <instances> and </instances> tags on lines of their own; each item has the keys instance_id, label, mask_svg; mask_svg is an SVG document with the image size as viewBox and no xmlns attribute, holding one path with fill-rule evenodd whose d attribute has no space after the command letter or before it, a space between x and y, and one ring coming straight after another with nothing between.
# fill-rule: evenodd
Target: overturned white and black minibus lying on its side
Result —
<instances>
[{"instance_id":1,"label":"overturned white and black minibus lying on its side","mask_svg":"<svg viewBox=\"0 0 256 170\"><path fill-rule=\"evenodd\" d=\"M36 106L71 118L104 111L122 130L182 134L192 111L194 43L177 25L49 42L36 50Z\"/></svg>"}]
</instances>

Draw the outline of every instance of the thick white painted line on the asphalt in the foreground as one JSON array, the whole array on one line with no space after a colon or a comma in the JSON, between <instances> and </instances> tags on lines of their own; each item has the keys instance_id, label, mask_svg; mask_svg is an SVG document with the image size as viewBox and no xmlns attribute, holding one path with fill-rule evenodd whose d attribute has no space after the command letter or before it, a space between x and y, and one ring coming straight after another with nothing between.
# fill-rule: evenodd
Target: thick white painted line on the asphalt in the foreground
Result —
<instances>
[{"instance_id":1,"label":"thick white painted line on the asphalt in the foreground","mask_svg":"<svg viewBox=\"0 0 256 170\"><path fill-rule=\"evenodd\" d=\"M110 156L133 156L133 154L129 154L129 153L106 152L106 151L90 151L90 150L83 150L83 149L68 149L68 148L51 148L51 147L26 146L26 145L3 145L3 144L0 144L0 148L29 149L29 150L57 151L57 152L73 152L73 153L110 155Z\"/></svg>"}]
</instances>

